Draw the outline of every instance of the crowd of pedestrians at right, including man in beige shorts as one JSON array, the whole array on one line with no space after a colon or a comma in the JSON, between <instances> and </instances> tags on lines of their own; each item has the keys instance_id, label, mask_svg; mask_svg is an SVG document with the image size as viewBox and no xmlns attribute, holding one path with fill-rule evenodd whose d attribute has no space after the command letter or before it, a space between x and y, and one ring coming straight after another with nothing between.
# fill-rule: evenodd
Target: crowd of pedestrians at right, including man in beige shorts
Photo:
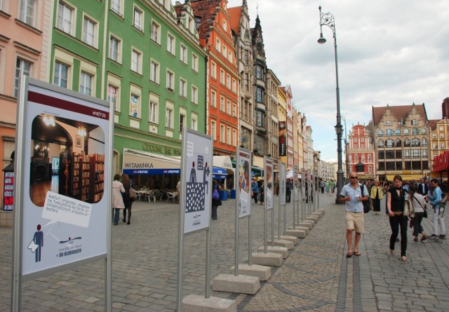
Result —
<instances>
[{"instance_id":1,"label":"crowd of pedestrians at right, including man in beige shorts","mask_svg":"<svg viewBox=\"0 0 449 312\"><path fill-rule=\"evenodd\" d=\"M327 183L320 182L321 193L328 189ZM345 203L347 244L346 257L360 256L358 243L365 228L365 213L363 202L370 205L373 214L380 214L382 199L385 198L385 212L389 217L391 236L389 252L396 255L395 245L400 242L401 260L407 261L407 231L413 229L413 241L429 239L445 239L444 210L446 194L449 191L447 183L438 179L403 181L401 175L394 176L393 182L378 180L359 182L356 172L349 175L349 183L340 192L340 202ZM427 207L429 205L429 208ZM422 228L422 219L427 218L428 210L432 209L432 233L427 236ZM369 211L369 210L368 210ZM353 233L355 232L355 236ZM354 245L353 245L354 236ZM400 236L400 239L398 238ZM420 237L421 236L421 237Z\"/></svg>"}]
</instances>

